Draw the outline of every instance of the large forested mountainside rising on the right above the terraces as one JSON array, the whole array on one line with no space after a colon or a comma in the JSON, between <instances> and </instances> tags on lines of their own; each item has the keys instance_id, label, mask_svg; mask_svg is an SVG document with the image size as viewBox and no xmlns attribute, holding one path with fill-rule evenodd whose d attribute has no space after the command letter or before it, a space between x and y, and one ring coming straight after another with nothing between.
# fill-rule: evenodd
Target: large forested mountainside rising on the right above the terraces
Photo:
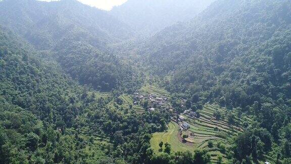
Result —
<instances>
[{"instance_id":1,"label":"large forested mountainside rising on the right above the terraces","mask_svg":"<svg viewBox=\"0 0 291 164\"><path fill-rule=\"evenodd\" d=\"M217 1L192 21L156 34L148 61L159 74L174 70L172 91L219 97L236 86L249 96L287 103L290 8L289 1ZM235 97L228 103L246 107L255 101L231 102Z\"/></svg>"}]
</instances>

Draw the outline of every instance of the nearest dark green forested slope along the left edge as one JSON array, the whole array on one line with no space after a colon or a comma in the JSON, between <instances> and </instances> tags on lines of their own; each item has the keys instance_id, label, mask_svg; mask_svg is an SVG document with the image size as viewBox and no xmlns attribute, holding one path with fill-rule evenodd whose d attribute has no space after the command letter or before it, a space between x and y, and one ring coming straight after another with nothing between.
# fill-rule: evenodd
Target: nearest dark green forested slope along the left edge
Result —
<instances>
[{"instance_id":1,"label":"nearest dark green forested slope along the left edge","mask_svg":"<svg viewBox=\"0 0 291 164\"><path fill-rule=\"evenodd\" d=\"M85 92L19 40L1 28L0 162L52 162L57 147L66 147L56 129L73 126L85 107Z\"/></svg>"}]
</instances>

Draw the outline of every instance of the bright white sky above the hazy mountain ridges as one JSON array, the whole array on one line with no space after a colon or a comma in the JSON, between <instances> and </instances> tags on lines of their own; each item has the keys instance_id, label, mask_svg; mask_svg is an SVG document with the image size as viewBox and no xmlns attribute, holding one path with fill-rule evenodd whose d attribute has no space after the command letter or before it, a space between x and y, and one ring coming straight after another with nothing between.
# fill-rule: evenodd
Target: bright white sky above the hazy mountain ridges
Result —
<instances>
[{"instance_id":1,"label":"bright white sky above the hazy mountain ridges","mask_svg":"<svg viewBox=\"0 0 291 164\"><path fill-rule=\"evenodd\" d=\"M39 1L55 1L55 0L39 0ZM83 4L93 6L103 10L111 10L114 6L119 6L125 3L127 0L77 0Z\"/></svg>"}]
</instances>

